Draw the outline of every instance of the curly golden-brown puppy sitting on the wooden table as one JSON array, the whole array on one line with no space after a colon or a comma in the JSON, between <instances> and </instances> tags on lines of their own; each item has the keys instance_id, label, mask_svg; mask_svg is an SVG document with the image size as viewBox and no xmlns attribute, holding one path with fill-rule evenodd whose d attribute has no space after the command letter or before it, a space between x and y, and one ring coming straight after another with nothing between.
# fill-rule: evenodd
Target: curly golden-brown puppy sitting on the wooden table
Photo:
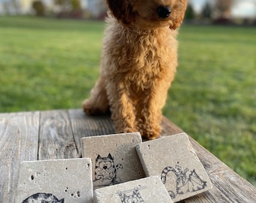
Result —
<instances>
[{"instance_id":1,"label":"curly golden-brown puppy sitting on the wooden table","mask_svg":"<svg viewBox=\"0 0 256 203\"><path fill-rule=\"evenodd\" d=\"M110 13L102 45L101 72L86 114L110 108L117 132L158 138L162 108L175 76L187 0L107 0Z\"/></svg>"}]
</instances>

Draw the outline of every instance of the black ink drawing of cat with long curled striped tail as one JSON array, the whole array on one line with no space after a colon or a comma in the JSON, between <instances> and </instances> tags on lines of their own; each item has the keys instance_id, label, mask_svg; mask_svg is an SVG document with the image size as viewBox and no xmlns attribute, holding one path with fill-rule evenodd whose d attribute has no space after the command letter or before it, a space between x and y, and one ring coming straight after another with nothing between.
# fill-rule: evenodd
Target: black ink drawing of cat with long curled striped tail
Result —
<instances>
[{"instance_id":1,"label":"black ink drawing of cat with long curled striped tail","mask_svg":"<svg viewBox=\"0 0 256 203\"><path fill-rule=\"evenodd\" d=\"M206 181L203 181L195 170L188 171L188 168L183 169L180 165L175 165L175 168L167 166L163 169L161 174L163 184L166 184L167 174L171 172L175 174L176 179L176 186L174 189L166 188L171 198L175 198L177 194L181 195L187 192L195 192L206 187Z\"/></svg>"}]
</instances>

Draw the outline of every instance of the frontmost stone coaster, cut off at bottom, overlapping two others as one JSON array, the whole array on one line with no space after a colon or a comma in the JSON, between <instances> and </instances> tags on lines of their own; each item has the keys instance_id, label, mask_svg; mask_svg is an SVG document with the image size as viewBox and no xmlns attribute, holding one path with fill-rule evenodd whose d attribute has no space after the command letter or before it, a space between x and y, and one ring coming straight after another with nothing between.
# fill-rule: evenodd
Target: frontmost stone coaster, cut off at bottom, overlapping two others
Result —
<instances>
[{"instance_id":1,"label":"frontmost stone coaster, cut off at bottom, overlapping two others","mask_svg":"<svg viewBox=\"0 0 256 203\"><path fill-rule=\"evenodd\" d=\"M96 203L172 202L172 198L170 198L163 183L157 176L96 189L94 191L94 200Z\"/></svg>"}]
</instances>

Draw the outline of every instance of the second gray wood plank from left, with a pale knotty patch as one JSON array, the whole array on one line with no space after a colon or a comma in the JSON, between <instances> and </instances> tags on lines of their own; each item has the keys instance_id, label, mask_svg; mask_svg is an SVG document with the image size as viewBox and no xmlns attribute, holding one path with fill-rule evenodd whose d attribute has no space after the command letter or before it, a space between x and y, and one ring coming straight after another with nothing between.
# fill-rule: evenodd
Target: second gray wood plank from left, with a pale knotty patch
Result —
<instances>
[{"instance_id":1,"label":"second gray wood plank from left, with a pale knotty patch","mask_svg":"<svg viewBox=\"0 0 256 203\"><path fill-rule=\"evenodd\" d=\"M67 111L42 111L38 159L69 159L78 156Z\"/></svg>"}]
</instances>

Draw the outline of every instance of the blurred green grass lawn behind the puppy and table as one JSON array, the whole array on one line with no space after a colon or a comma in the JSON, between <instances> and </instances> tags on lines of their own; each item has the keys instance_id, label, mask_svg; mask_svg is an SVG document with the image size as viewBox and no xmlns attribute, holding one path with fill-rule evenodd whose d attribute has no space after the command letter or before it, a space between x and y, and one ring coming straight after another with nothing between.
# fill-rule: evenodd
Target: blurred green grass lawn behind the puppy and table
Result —
<instances>
[{"instance_id":1,"label":"blurred green grass lawn behind the puppy and table","mask_svg":"<svg viewBox=\"0 0 256 203\"><path fill-rule=\"evenodd\" d=\"M105 23L0 17L0 112L81 108ZM183 25L163 114L256 186L256 28Z\"/></svg>"}]
</instances>

